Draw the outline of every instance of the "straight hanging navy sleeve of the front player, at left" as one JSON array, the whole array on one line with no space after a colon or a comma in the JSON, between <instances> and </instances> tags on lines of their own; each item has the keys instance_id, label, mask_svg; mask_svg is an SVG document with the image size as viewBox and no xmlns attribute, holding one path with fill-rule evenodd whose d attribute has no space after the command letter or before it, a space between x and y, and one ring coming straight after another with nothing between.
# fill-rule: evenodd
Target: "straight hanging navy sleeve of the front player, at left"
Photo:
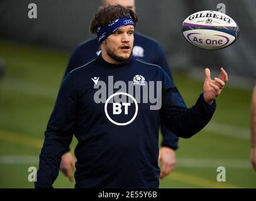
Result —
<instances>
[{"instance_id":1,"label":"straight hanging navy sleeve of the front player, at left","mask_svg":"<svg viewBox=\"0 0 256 201\"><path fill-rule=\"evenodd\" d=\"M62 82L45 131L35 188L53 188L52 184L58 176L61 156L72 141L76 111L77 94L69 73Z\"/></svg>"}]
</instances>

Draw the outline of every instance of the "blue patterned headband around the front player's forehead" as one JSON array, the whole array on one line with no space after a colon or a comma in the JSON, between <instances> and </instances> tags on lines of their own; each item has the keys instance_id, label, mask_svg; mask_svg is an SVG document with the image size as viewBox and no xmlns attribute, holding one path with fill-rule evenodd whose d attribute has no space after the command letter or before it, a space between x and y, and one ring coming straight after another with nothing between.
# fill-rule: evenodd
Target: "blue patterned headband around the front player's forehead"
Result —
<instances>
[{"instance_id":1,"label":"blue patterned headband around the front player's forehead","mask_svg":"<svg viewBox=\"0 0 256 201\"><path fill-rule=\"evenodd\" d=\"M121 17L114 21L111 21L111 23L107 24L106 26L99 26L96 31L98 43L100 44L109 35L114 33L114 31L120 29L121 27L128 26L128 25L134 26L133 19Z\"/></svg>"}]
</instances>

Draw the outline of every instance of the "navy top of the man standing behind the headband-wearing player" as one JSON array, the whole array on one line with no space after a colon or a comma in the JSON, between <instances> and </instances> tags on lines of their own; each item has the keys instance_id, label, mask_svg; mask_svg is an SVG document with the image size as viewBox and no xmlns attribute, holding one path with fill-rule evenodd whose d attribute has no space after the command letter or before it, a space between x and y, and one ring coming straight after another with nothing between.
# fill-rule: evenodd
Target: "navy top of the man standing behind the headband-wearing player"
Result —
<instances>
[{"instance_id":1,"label":"navy top of the man standing behind the headband-wearing player","mask_svg":"<svg viewBox=\"0 0 256 201\"><path fill-rule=\"evenodd\" d=\"M99 43L97 43L96 38L87 40L75 47L75 50L72 52L69 63L67 65L64 77L71 70L74 70L77 67L81 67L82 65L96 58L100 52ZM159 67L162 67L172 79L164 50L156 40L142 35L141 33L135 32L133 56L145 60L148 63L159 65ZM160 129L163 136L161 145L176 150L178 148L179 138L174 133L165 128L165 126L162 124Z\"/></svg>"}]
</instances>

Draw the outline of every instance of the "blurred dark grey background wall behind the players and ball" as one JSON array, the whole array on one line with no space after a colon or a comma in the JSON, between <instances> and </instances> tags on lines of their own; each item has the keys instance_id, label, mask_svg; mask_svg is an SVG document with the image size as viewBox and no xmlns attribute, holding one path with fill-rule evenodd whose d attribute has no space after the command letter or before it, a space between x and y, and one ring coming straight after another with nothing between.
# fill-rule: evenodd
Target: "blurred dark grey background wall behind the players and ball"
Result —
<instances>
[{"instance_id":1,"label":"blurred dark grey background wall behind the players and ball","mask_svg":"<svg viewBox=\"0 0 256 201\"><path fill-rule=\"evenodd\" d=\"M37 5L37 19L28 18L29 3ZM75 45L92 37L89 23L100 3L99 0L1 0L0 38L71 52ZM240 26L238 41L214 51L189 44L181 34L184 19L201 10L218 11L219 3L225 4L226 14ZM256 78L255 9L254 0L137 0L137 31L160 41L173 70L187 70L202 77L202 68L218 70L224 66L232 75L231 84L252 87Z\"/></svg>"}]
</instances>

